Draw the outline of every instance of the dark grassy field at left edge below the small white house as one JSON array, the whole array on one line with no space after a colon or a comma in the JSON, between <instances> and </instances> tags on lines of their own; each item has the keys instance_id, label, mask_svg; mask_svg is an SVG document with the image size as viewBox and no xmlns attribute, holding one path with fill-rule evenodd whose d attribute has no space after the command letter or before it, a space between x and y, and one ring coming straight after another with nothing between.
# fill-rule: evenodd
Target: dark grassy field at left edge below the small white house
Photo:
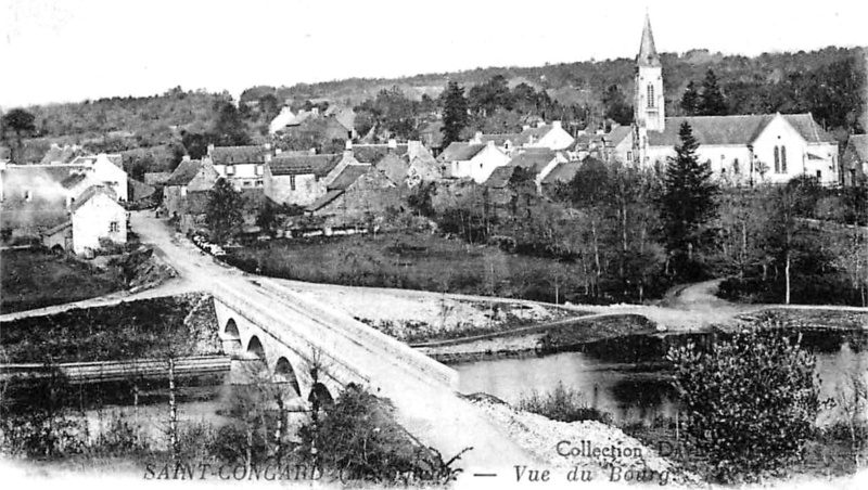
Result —
<instances>
[{"instance_id":1,"label":"dark grassy field at left edge below the small white house","mask_svg":"<svg viewBox=\"0 0 868 490\"><path fill-rule=\"evenodd\" d=\"M0 311L78 301L123 287L118 274L36 249L0 252Z\"/></svg>"}]
</instances>

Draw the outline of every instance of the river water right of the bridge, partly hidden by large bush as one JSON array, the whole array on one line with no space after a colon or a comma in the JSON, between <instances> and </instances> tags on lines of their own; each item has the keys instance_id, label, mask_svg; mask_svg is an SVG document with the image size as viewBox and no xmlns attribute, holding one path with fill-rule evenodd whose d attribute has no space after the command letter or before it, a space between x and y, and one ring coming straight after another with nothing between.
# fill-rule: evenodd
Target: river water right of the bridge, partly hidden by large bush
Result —
<instances>
[{"instance_id":1,"label":"river water right of the bridge, partly hidden by large bush","mask_svg":"<svg viewBox=\"0 0 868 490\"><path fill-rule=\"evenodd\" d=\"M452 368L459 373L462 394L485 392L518 403L534 390L545 394L563 383L578 390L588 407L609 412L616 424L650 424L659 416L674 418L678 400L671 374L655 365L662 361L660 349L649 348L647 339L622 338L585 351L483 360ZM852 392L854 374L868 383L868 349L860 347L864 343L854 349L840 335L831 343L828 338L808 340L817 358L821 400L834 398L840 390ZM840 417L840 409L827 409L818 424Z\"/></svg>"}]
</instances>

